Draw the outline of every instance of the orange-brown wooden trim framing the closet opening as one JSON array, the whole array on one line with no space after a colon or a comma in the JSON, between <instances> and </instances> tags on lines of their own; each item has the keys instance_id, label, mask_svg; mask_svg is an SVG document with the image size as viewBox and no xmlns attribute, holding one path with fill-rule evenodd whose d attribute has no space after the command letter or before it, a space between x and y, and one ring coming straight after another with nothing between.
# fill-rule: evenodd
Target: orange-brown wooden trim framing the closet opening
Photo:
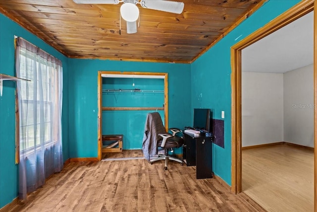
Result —
<instances>
[{"instance_id":1,"label":"orange-brown wooden trim framing the closet opening","mask_svg":"<svg viewBox=\"0 0 317 212\"><path fill-rule=\"evenodd\" d=\"M161 76L164 78L164 124L165 130L168 130L168 74L161 72L130 72L130 71L98 71L98 160L102 159L102 94L103 94L103 74L113 75L148 75L148 76ZM131 77L132 78L132 77ZM136 77L137 78L137 77Z\"/></svg>"}]
</instances>

